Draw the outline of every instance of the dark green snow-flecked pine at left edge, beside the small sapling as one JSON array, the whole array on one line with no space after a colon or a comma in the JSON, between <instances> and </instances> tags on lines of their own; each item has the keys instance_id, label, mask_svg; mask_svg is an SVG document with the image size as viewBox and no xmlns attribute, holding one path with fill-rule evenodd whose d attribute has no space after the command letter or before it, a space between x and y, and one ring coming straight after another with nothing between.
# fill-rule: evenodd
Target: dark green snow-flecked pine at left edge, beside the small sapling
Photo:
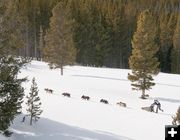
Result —
<instances>
[{"instance_id":1,"label":"dark green snow-flecked pine at left edge, beside the small sapling","mask_svg":"<svg viewBox=\"0 0 180 140\"><path fill-rule=\"evenodd\" d=\"M21 113L24 89L21 83L25 79L17 78L21 67L20 59L0 58L0 132L10 136L8 127L16 115Z\"/></svg>"}]
</instances>

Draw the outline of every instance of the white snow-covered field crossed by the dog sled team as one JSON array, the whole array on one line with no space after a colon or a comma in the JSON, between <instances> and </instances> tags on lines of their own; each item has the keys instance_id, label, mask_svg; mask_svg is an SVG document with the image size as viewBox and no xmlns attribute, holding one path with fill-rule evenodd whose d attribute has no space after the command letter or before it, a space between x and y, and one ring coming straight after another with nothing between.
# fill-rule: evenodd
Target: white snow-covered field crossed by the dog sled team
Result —
<instances>
[{"instance_id":1,"label":"white snow-covered field crossed by the dog sled team","mask_svg":"<svg viewBox=\"0 0 180 140\"><path fill-rule=\"evenodd\" d=\"M156 86L148 92L150 98L142 100L140 92L131 90L128 72L66 66L61 76L60 70L49 70L46 63L32 61L19 76L29 79L23 84L26 94L36 77L43 113L33 126L28 120L22 123L26 114L23 103L23 114L10 128L14 132L10 140L164 140L165 125L171 124L171 116L180 105L180 75L160 73L155 77ZM44 88L53 89L53 94ZM63 97L63 92L72 97ZM90 96L90 101L82 100L82 95ZM110 104L100 103L102 98ZM154 99L161 102L164 112L141 110ZM119 101L125 102L127 108L116 105ZM0 140L4 139L0 136Z\"/></svg>"}]
</instances>

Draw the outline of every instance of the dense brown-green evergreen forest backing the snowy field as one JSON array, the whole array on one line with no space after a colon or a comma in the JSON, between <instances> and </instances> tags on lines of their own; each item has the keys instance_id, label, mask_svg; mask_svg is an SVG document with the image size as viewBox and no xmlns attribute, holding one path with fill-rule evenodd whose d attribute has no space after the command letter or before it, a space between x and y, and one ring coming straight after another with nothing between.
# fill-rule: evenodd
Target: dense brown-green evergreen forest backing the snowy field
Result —
<instances>
[{"instance_id":1,"label":"dense brown-green evergreen forest backing the snowy field","mask_svg":"<svg viewBox=\"0 0 180 140\"><path fill-rule=\"evenodd\" d=\"M126 69L144 10L156 21L160 71L179 74L179 0L1 0L0 55Z\"/></svg>"}]
</instances>

